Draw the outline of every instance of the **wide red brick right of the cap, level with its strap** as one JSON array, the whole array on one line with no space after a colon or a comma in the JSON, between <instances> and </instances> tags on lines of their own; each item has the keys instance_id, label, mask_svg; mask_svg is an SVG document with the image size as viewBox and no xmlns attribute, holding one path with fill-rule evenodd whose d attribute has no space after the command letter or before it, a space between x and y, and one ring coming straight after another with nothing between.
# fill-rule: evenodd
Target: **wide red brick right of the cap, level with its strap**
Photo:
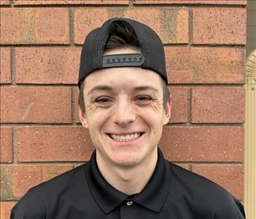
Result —
<instances>
[{"instance_id":1,"label":"wide red brick right of the cap, level with its strap","mask_svg":"<svg viewBox=\"0 0 256 219\"><path fill-rule=\"evenodd\" d=\"M171 84L244 83L244 49L165 47Z\"/></svg>"}]
</instances>

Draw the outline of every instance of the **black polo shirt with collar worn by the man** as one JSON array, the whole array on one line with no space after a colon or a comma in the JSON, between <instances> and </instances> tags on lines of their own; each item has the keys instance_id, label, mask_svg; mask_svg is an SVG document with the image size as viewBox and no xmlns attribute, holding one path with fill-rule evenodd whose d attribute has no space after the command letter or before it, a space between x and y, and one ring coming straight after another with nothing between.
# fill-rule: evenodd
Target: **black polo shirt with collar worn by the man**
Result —
<instances>
[{"instance_id":1,"label":"black polo shirt with collar worn by the man","mask_svg":"<svg viewBox=\"0 0 256 219\"><path fill-rule=\"evenodd\" d=\"M31 188L12 209L12 219L238 219L244 207L216 183L165 161L138 194L117 191L100 174L96 152L91 160Z\"/></svg>"}]
</instances>

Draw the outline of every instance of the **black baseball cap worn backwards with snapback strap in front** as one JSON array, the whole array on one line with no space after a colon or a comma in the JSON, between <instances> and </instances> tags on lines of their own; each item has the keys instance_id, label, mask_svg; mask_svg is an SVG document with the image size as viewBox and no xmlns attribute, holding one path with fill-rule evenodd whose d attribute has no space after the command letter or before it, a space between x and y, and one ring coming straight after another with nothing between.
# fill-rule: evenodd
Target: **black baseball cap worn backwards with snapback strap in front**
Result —
<instances>
[{"instance_id":1,"label":"black baseball cap worn backwards with snapback strap in front","mask_svg":"<svg viewBox=\"0 0 256 219\"><path fill-rule=\"evenodd\" d=\"M105 45L110 34L110 25L118 20L127 22L132 26L138 37L140 53L104 55ZM156 32L136 20L111 18L105 21L100 28L92 30L83 43L78 87L80 88L85 77L94 70L124 66L140 66L143 69L150 69L159 74L167 84L165 51Z\"/></svg>"}]
</instances>

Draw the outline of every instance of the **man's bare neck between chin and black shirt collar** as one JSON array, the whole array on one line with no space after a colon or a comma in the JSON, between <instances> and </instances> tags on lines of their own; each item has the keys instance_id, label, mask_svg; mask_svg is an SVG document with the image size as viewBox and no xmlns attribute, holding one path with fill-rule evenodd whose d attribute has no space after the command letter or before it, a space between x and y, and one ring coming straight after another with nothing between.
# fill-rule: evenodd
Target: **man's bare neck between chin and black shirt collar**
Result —
<instances>
[{"instance_id":1,"label":"man's bare neck between chin and black shirt collar","mask_svg":"<svg viewBox=\"0 0 256 219\"><path fill-rule=\"evenodd\" d=\"M99 172L105 180L118 191L132 195L140 193L150 180L157 165L157 148L150 157L132 166L115 165L102 159L99 153L96 157Z\"/></svg>"}]
</instances>

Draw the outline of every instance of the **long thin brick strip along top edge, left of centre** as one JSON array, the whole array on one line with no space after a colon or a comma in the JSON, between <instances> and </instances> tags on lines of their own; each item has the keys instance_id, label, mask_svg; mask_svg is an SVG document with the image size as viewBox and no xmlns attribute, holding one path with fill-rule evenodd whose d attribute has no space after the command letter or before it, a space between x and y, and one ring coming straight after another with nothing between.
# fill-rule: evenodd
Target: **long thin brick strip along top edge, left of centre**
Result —
<instances>
[{"instance_id":1,"label":"long thin brick strip along top edge, left of centre","mask_svg":"<svg viewBox=\"0 0 256 219\"><path fill-rule=\"evenodd\" d=\"M31 5L31 4L129 4L129 0L15 0L15 5Z\"/></svg>"}]
</instances>

